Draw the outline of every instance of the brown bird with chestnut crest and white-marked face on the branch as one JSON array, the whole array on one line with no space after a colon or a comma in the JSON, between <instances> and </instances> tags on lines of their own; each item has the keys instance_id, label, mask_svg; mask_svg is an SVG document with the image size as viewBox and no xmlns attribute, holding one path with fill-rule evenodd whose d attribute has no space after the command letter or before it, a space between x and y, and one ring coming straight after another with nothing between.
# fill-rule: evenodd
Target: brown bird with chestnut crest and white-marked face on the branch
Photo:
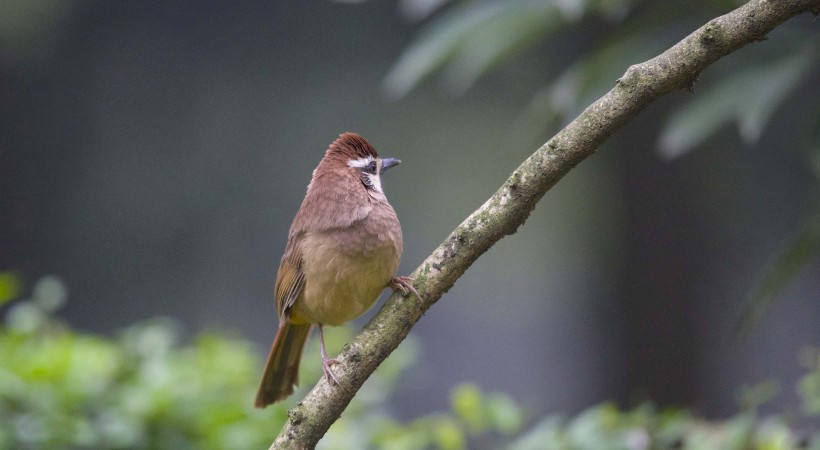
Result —
<instances>
[{"instance_id":1,"label":"brown bird with chestnut crest and white-marked face on the branch","mask_svg":"<svg viewBox=\"0 0 820 450\"><path fill-rule=\"evenodd\" d=\"M322 326L361 316L387 287L418 295L410 278L395 276L401 226L382 191L381 174L400 162L380 158L358 134L343 133L313 171L276 275L279 331L257 408L293 393L312 325L319 327L325 376L338 384L331 370L337 361L327 356Z\"/></svg>"}]
</instances>

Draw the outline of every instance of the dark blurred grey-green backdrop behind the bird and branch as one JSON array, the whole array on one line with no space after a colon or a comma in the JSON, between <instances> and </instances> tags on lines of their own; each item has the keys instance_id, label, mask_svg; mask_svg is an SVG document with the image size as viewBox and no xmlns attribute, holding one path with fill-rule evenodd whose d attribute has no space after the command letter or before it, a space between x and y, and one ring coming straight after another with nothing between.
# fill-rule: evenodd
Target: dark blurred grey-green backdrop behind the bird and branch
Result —
<instances>
[{"instance_id":1,"label":"dark blurred grey-green backdrop behind the bird and branch","mask_svg":"<svg viewBox=\"0 0 820 450\"><path fill-rule=\"evenodd\" d=\"M402 159L384 185L409 273L573 111L654 54L638 44L663 49L735 5L541 2L561 19L553 33L470 69L460 55L496 42L479 21L492 9L471 3L0 2L0 269L59 276L60 315L81 329L171 316L189 333L238 330L261 370L287 230L339 133ZM461 34L448 41L447 26ZM613 42L637 46L582 64ZM765 380L782 387L776 408L796 407L799 353L820 342L817 258L748 334L735 327L818 203L818 43L816 22L793 19L572 171L414 328L419 361L394 412L446 408L464 381L534 413L652 399L720 417ZM757 128L738 131L720 105L679 112L783 54L803 55L803 71ZM735 98L769 89L730 81ZM687 134L687 117L715 126Z\"/></svg>"}]
</instances>

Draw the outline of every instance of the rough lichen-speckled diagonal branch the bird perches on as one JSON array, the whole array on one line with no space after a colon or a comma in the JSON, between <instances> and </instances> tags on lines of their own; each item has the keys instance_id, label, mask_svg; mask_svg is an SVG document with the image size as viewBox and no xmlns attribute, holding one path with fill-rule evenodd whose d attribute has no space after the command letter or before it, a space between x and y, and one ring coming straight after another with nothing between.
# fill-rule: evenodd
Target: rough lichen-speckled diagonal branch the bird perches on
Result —
<instances>
[{"instance_id":1,"label":"rough lichen-speckled diagonal branch the bird perches on","mask_svg":"<svg viewBox=\"0 0 820 450\"><path fill-rule=\"evenodd\" d=\"M721 57L766 35L820 0L752 0L706 25L655 58L629 67L615 87L542 145L478 210L464 220L413 272L421 299L394 293L362 332L344 347L334 372L288 412L272 449L313 448L378 365L467 268L493 244L515 233L536 203L567 172L660 96L692 89L698 75Z\"/></svg>"}]
</instances>

